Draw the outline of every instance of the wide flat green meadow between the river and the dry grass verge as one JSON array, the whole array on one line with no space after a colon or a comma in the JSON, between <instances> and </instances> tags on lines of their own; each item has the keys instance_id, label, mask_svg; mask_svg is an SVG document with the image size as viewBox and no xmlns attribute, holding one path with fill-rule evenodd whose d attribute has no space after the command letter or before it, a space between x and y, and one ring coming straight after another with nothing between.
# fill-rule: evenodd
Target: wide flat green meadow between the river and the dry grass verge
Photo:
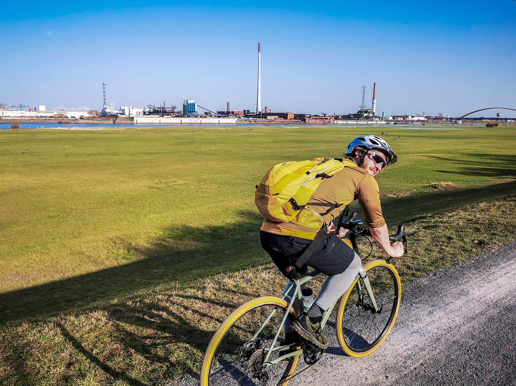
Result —
<instances>
[{"instance_id":1,"label":"wide flat green meadow between the river and the dry grass verge","mask_svg":"<svg viewBox=\"0 0 516 386\"><path fill-rule=\"evenodd\" d=\"M377 180L390 224L516 192L515 128L455 128L388 128L399 162ZM267 262L253 204L264 172L382 130L0 131L0 323Z\"/></svg>"}]
</instances>

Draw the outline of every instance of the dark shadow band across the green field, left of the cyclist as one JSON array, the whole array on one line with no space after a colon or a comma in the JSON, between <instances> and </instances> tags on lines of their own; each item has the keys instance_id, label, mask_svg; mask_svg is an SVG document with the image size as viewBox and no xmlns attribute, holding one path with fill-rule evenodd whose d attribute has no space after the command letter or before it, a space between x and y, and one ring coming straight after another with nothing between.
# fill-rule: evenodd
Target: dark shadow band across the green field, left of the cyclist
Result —
<instances>
[{"instance_id":1,"label":"dark shadow band across the green field, left of the cyclist","mask_svg":"<svg viewBox=\"0 0 516 386\"><path fill-rule=\"evenodd\" d=\"M2 293L0 324L35 320L132 294L160 283L189 280L268 262L257 232L262 218L252 212L240 213L240 218L240 222L231 226L201 230L193 226L166 229L164 236L150 247L128 247L141 256L136 261ZM191 247L178 248L181 241Z\"/></svg>"}]
</instances>

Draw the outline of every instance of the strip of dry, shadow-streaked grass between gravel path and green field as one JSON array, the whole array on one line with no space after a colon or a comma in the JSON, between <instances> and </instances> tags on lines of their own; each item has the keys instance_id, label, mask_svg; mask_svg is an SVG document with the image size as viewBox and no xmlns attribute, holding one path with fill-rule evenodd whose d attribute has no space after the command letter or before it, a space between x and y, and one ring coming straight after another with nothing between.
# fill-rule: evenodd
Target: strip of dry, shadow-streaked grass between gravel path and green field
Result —
<instances>
[{"instance_id":1,"label":"strip of dry, shadow-streaked grass between gravel path and green field","mask_svg":"<svg viewBox=\"0 0 516 386\"><path fill-rule=\"evenodd\" d=\"M513 239L512 217L506 214L514 212L516 196L509 196L408 222L409 253L395 260L402 281ZM382 256L375 248L370 259ZM453 270L449 273L453 278ZM322 280L317 276L310 286L318 292ZM0 384L147 385L195 376L213 332L229 313L255 296L281 295L285 284L266 264L162 284L102 307L4 327Z\"/></svg>"}]
</instances>

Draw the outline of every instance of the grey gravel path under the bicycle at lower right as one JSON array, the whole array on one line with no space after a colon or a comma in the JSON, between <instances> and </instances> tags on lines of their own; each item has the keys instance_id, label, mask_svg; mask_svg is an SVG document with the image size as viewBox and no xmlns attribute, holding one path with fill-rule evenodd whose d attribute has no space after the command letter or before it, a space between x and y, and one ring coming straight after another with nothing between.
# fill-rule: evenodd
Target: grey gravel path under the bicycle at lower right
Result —
<instances>
[{"instance_id":1,"label":"grey gravel path under the bicycle at lower right","mask_svg":"<svg viewBox=\"0 0 516 386\"><path fill-rule=\"evenodd\" d=\"M300 359L289 386L516 386L516 242L405 286L390 336L369 356L345 356L325 333L330 347L311 367Z\"/></svg>"}]
</instances>

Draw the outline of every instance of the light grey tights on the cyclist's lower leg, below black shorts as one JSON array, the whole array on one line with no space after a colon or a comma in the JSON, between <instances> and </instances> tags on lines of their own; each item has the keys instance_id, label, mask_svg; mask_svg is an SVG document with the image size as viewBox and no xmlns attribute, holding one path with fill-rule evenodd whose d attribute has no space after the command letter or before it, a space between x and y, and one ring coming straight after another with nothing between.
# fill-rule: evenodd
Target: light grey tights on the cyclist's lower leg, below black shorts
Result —
<instances>
[{"instance_id":1,"label":"light grey tights on the cyclist's lower leg, below black shorts","mask_svg":"<svg viewBox=\"0 0 516 386\"><path fill-rule=\"evenodd\" d=\"M314 303L316 303L321 309L328 311L331 305L335 303L349 287L351 287L351 284L353 284L354 279L356 279L358 272L360 271L360 267L362 267L362 261L360 260L360 256L355 253L353 261L351 261L351 264L343 273L329 276L326 279L326 282L322 285L319 296L317 296ZM292 282L288 282L285 291L290 285L292 285ZM289 291L288 295L292 296L294 290L295 287ZM285 331L288 332L290 330L290 326L285 325Z\"/></svg>"}]
</instances>

